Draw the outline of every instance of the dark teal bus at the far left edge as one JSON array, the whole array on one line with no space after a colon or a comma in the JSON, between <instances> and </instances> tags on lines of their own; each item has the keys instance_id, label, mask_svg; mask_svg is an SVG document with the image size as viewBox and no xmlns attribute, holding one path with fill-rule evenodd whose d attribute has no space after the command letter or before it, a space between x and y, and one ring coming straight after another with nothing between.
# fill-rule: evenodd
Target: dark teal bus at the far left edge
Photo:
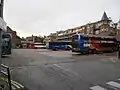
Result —
<instances>
[{"instance_id":1,"label":"dark teal bus at the far left edge","mask_svg":"<svg viewBox=\"0 0 120 90\"><path fill-rule=\"evenodd\" d=\"M8 33L3 33L2 35L2 55L11 54L12 41L11 36Z\"/></svg>"}]
</instances>

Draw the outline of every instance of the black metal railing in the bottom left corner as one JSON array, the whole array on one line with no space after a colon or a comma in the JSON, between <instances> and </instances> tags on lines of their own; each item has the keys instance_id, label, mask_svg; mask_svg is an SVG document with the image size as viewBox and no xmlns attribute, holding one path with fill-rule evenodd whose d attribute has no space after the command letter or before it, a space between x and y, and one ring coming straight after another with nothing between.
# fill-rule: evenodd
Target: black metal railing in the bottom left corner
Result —
<instances>
[{"instance_id":1,"label":"black metal railing in the bottom left corner","mask_svg":"<svg viewBox=\"0 0 120 90\"><path fill-rule=\"evenodd\" d=\"M4 64L1 64L1 69L4 68L7 70L7 72L1 70L1 73L5 76L7 76L8 78L8 83L9 83L9 90L12 90L12 86L11 86L11 77L10 77L10 69L8 66L4 65Z\"/></svg>"}]
</instances>

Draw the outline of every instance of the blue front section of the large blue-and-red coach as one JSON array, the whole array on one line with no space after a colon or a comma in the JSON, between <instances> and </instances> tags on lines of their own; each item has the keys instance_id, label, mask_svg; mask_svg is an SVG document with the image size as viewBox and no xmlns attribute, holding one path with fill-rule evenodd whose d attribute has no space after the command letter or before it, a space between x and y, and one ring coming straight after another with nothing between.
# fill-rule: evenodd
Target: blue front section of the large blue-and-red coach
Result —
<instances>
[{"instance_id":1,"label":"blue front section of the large blue-and-red coach","mask_svg":"<svg viewBox=\"0 0 120 90\"><path fill-rule=\"evenodd\" d=\"M88 35L75 34L72 36L72 52L89 53Z\"/></svg>"}]
</instances>

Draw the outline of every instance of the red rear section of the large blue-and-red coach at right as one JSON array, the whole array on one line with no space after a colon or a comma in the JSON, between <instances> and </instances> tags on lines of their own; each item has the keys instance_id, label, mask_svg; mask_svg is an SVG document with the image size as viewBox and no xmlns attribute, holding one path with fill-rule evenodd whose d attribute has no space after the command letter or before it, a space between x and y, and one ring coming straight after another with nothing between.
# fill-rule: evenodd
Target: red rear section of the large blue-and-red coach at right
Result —
<instances>
[{"instance_id":1,"label":"red rear section of the large blue-and-red coach at right","mask_svg":"<svg viewBox=\"0 0 120 90\"><path fill-rule=\"evenodd\" d=\"M96 52L112 52L117 50L117 41L112 36L89 36L89 51Z\"/></svg>"}]
</instances>

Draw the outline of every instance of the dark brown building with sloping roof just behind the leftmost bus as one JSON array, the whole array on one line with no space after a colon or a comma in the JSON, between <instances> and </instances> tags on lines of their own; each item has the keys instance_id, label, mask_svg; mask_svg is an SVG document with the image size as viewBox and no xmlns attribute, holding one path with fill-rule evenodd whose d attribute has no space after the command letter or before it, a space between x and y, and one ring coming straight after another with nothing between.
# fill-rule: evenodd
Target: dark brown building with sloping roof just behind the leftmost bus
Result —
<instances>
[{"instance_id":1,"label":"dark brown building with sloping roof just behind the leftmost bus","mask_svg":"<svg viewBox=\"0 0 120 90\"><path fill-rule=\"evenodd\" d=\"M21 38L17 35L17 32L13 31L9 26L7 26L7 33L10 33L11 35L13 48L21 44Z\"/></svg>"}]
</instances>

